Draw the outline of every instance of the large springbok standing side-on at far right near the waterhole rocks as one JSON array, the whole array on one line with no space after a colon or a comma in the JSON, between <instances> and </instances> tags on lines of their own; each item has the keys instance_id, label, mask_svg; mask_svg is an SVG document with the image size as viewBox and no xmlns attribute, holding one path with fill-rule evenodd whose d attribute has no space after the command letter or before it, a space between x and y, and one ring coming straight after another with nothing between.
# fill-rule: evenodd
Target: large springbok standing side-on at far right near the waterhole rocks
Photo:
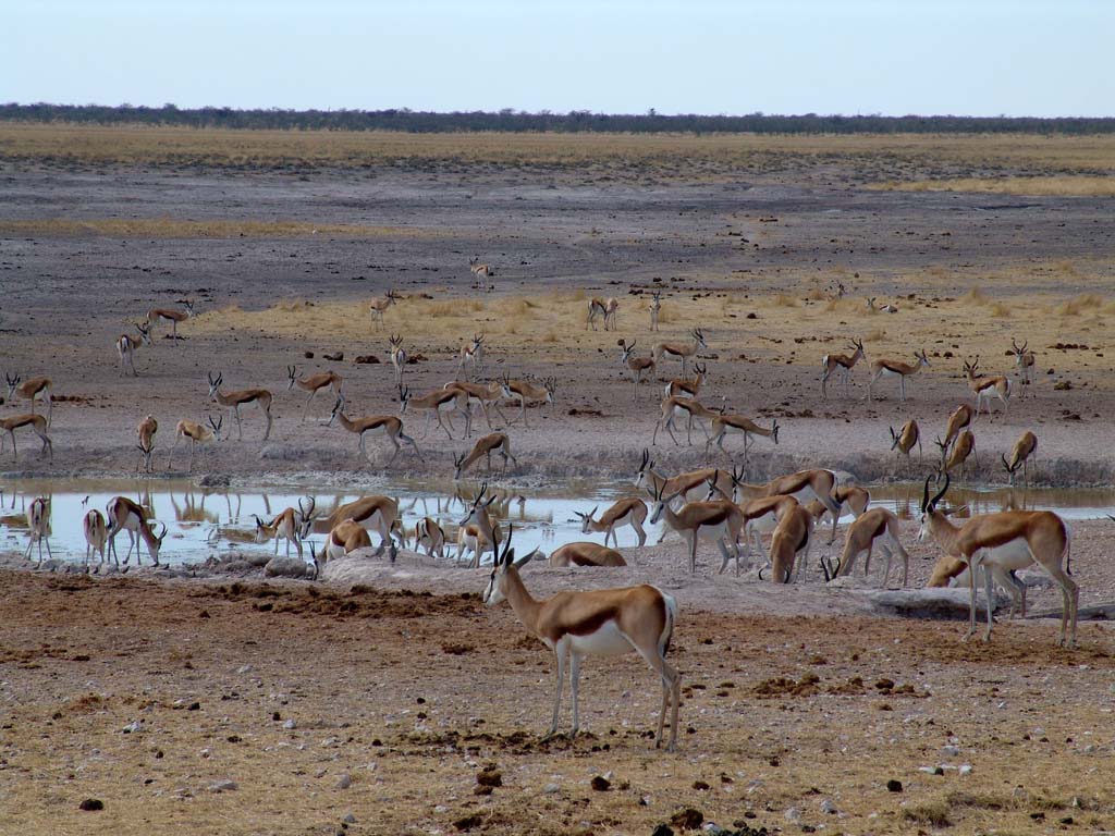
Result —
<instances>
[{"instance_id":1,"label":"large springbok standing side-on at far right near the waterhole rocks","mask_svg":"<svg viewBox=\"0 0 1115 836\"><path fill-rule=\"evenodd\" d=\"M983 591L987 596L987 632L983 634L983 641L991 640L993 567L1000 566L1014 571L1036 563L1060 586L1064 607L1057 643L1075 648L1076 611L1080 590L1066 571L1072 560L1072 541L1065 521L1051 511L1001 511L997 514L973 516L958 528L937 509L937 504L949 489L949 475L944 474L944 486L932 499L929 498L930 479L932 476L925 477L918 539L937 541L946 554L964 561L973 574L983 570ZM976 633L975 583L971 585L968 615L966 640Z\"/></svg>"}]
</instances>

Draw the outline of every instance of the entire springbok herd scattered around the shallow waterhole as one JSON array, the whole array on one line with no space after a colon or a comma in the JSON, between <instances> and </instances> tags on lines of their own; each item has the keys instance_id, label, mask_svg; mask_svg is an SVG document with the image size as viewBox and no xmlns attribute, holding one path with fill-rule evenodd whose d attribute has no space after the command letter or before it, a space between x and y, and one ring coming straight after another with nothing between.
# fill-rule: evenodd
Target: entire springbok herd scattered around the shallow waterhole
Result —
<instances>
[{"instance_id":1,"label":"entire springbok herd scattered around the shallow waterhole","mask_svg":"<svg viewBox=\"0 0 1115 836\"><path fill-rule=\"evenodd\" d=\"M487 264L479 264L477 259L471 262L471 270L477 279L486 280L494 275ZM491 285L487 285L491 289ZM385 313L398 299L394 291L377 299L370 305L374 321L382 325ZM875 309L874 299L869 300L869 307ZM142 346L149 346L152 332L163 322L172 325L171 338L177 340L177 327L193 315L193 304L182 300L183 308L154 309L148 312L143 322L136 323L135 336L122 334L116 341L120 372L137 375L134 356ZM598 322L604 330L614 331L618 328L620 304L615 299L591 299L588 307L585 328L595 330ZM892 307L875 310L890 311ZM653 293L648 310L650 313L650 330L658 330L661 309L660 294ZM486 344L483 334L474 334L473 339L462 347L458 357L459 375L442 389L426 395L415 396L404 382L407 364L407 352L403 338L391 336L389 358L394 382L399 392L398 415L371 415L353 417L346 415L346 399L341 376L327 371L309 377L299 377L298 369L289 366L288 391L295 388L308 393L302 407L302 420L314 397L326 390L334 399L332 414L328 425L334 421L357 436L359 450L369 461L370 456L365 447L366 439L382 438L394 447L390 458L384 466L390 465L398 456L403 444L411 448L414 455L423 458L415 438L404 431L404 419L409 414L424 412L426 416L426 432L429 422L436 419L449 439L453 439L454 414L464 420L464 437L472 436L474 409L478 409L493 429L491 410L495 410L504 424L512 425L501 409L501 401L517 404L518 417L527 425L527 405L554 404L556 380L547 378L541 385L526 380L514 380L504 375L497 380L478 382L485 369ZM176 343L175 343L176 344ZM845 533L844 548L840 561L831 565L822 560L821 570L826 581L847 575L852 572L860 555L865 555L864 570L870 567L872 551L878 546L886 556L886 570L883 584L889 580L892 561L902 563L902 585L906 585L909 561L906 552L899 538L899 525L895 515L884 507L871 507L870 494L866 489L836 484L831 470L809 469L772 479L765 484L744 482L748 451L756 438L767 438L778 444L779 426L775 420L769 427L760 427L752 419L741 415L730 415L724 409L702 406L698 400L706 383L707 369L698 362L701 351L708 350L707 334L695 327L690 329L689 339L681 341L656 342L649 356L634 353L636 342L628 343L618 340L621 351L621 368L630 372L634 386L633 397L639 399L639 388L643 376L657 377L665 360L680 361L681 377L669 381L661 400L661 415L656 422L651 446L657 444L660 430L665 430L677 445L675 430L677 421L686 425L687 441L691 444L692 427L696 424L705 434L706 455L716 446L727 453L724 446L726 436L743 436L744 468L729 469L702 468L690 473L668 476L655 467L655 460L649 448L642 453L640 466L636 473L634 484L640 495L623 498L597 516L597 508L582 514L582 532L603 533L604 544L580 542L569 543L555 552L549 560L552 565L560 566L624 566L623 556L614 548L608 547L610 538L615 537L618 528L631 526L639 545L646 542L643 524L649 518L651 524L662 522L665 529L672 529L686 541L689 553L690 572L697 570L697 547L700 541L715 543L720 552L723 573L729 563L735 562L736 574L739 574L744 554L740 553L740 538L750 555L754 545L762 554L766 552L765 565L759 568L759 577L764 575L774 583L791 583L806 574L809 546L814 536L815 525L822 523L825 516L831 519L830 543L836 535L838 519L851 514L854 522ZM821 392L828 396L828 383L838 383L847 391L852 382L854 368L863 362L870 366L871 373L866 387L866 397L874 397L875 387L884 379L898 380L901 401L906 400L906 379L918 375L930 366L924 351L917 352L913 362L892 358L876 358L867 361L863 342L853 340L849 349L851 353L825 354L821 361ZM1014 356L1017 364L1017 377L1020 383L1030 382L1030 371L1034 367L1034 353L1027 343L1014 343ZM687 378L690 361L696 376ZM951 483L951 474L963 468L969 457L975 453L975 437L971 427L978 417L991 411L991 399L997 398L1002 414L1009 406L1014 391L1011 378L1008 376L982 376L978 373L979 359L964 361L963 371L968 388L975 400L972 406L960 406L949 418L943 440L935 439L940 448L940 464L925 477L921 502L921 528L919 539L932 539L940 545L944 556L934 567L930 585L944 586L949 584L970 587L969 630L966 639L976 632L976 590L982 585L987 595L987 629L983 640L991 634L991 601L992 586L998 583L1011 595L1014 602L1025 615L1026 586L1016 577L1016 571L1037 564L1059 585L1064 609L1058 642L1069 648L1076 644L1076 621L1078 587L1068 573L1069 564L1069 531L1064 521L1051 512L1005 511L1001 513L973 516L963 525L958 526L950 521L951 509L941 506L941 502ZM474 382L474 380L476 382ZM12 456L18 456L16 449L16 429L28 427L36 432L42 443L40 457L49 454L54 457L54 447L48 436L52 419L51 381L39 377L23 381L19 375L8 375L8 402L29 400L31 412L17 415L0 420L0 428L7 431L12 440ZM220 407L226 407L235 421L237 439L243 438L241 407L255 405L265 420L263 439L270 437L272 429L271 405L273 395L268 389L249 388L229 391L223 389L224 379L220 372L209 375L209 398ZM46 415L36 412L36 405L41 401ZM707 427L706 427L707 422ZM221 440L224 422L222 417L209 416L204 422L191 419L177 421L174 441L167 457L167 467L173 464L174 451L181 441L190 446L190 469L193 468L195 447L210 445ZM158 421L153 416L146 416L137 427L138 448L142 459L137 465L145 473L153 469L153 453ZM911 418L891 434L891 449L906 459L906 470L912 467L911 454L917 445L921 449L921 431L918 422ZM2 437L7 441L7 436ZM1034 457L1037 438L1030 432L1024 432L1015 445L1010 458L1002 457L1004 466L1014 483L1015 473L1021 468L1028 483L1028 461ZM0 450L3 448L0 447ZM511 439L506 432L493 431L479 438L472 450L454 458L454 478L460 479L465 472L485 458L488 473L492 472L492 455L503 459L503 472L508 464L515 464L512 454ZM934 478L939 489L933 485ZM943 484L942 484L943 483ZM648 504L642 498L646 493ZM932 496L931 496L932 493ZM458 494L464 496L464 494ZM471 504L468 502L471 499ZM510 601L517 616L527 629L550 647L556 657L558 690L554 698L553 723L550 735L556 732L558 711L561 701L562 682L566 670L570 673L573 692L573 733L578 730L578 681L581 659L589 654L614 654L634 649L659 674L662 684L662 708L658 723L656 745L661 742L667 710L672 706L669 748L673 749L677 741L678 703L680 678L678 672L665 659L669 647L675 622L677 620L676 601L661 590L651 585L638 585L621 589L599 590L591 592L561 592L545 601L533 599L526 590L520 575L520 567L527 561L540 557L537 550L515 560L511 548L513 532L507 526L503 531L500 518L506 515L506 505L511 496L505 492L487 489L487 484L468 499L462 499L467 513L459 521L456 532L457 560L472 555L471 565L478 566L485 553L492 554L492 573L484 592L487 604L496 604L504 599ZM105 561L106 545L108 555L118 564L115 551L115 537L122 531L128 533L130 545L125 555L125 565L133 548L136 560L139 560L139 541L146 544L152 562L157 565L166 526L154 521L142 505L123 496L108 503L107 516L99 511L89 511L85 516L84 528L88 550L86 566L93 553ZM42 560L42 545L50 553L49 499L37 498L27 514L30 539L27 555L32 546L39 545L39 562ZM399 546L408 542L407 528L397 499L386 496L366 496L356 502L338 507L327 517L319 517L312 499L300 503L298 508L287 508L271 521L256 518L256 539L265 542L274 539L275 554L279 541L287 541L287 551L294 545L299 556L302 555L302 542L313 534L326 535L321 552L314 543L310 551L317 568L326 561L342 557L353 550L371 545L369 532L379 537L379 551L387 551L390 560L396 558ZM763 534L769 534L769 545L764 550ZM413 528L415 550L425 550L430 557L444 558L446 546L452 533L446 532L436 519L423 517L415 522ZM665 537L665 533L663 533ZM659 539L661 542L661 538ZM618 546L618 539L615 541ZM1014 609L1014 607L1012 607Z\"/></svg>"}]
</instances>

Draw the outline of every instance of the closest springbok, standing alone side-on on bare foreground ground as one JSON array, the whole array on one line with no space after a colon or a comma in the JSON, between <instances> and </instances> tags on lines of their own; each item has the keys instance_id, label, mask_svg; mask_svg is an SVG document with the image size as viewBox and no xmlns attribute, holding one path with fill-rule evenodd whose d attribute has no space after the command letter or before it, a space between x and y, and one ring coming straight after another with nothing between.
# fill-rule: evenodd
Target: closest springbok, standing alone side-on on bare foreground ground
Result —
<instances>
[{"instance_id":1,"label":"closest springbok, standing alone side-on on bare foreground ground","mask_svg":"<svg viewBox=\"0 0 1115 836\"><path fill-rule=\"evenodd\" d=\"M658 716L656 747L662 742L666 711L672 703L667 750L673 751L678 740L681 677L666 661L666 652L678 618L677 602L657 586L648 584L592 592L559 592L553 597L536 600L527 592L518 573L535 553L531 552L516 562L515 552L511 548L512 533L508 532L503 552L492 566L492 576L484 590L484 603L494 606L506 600L527 631L554 651L558 687L553 721L544 739L558 733L558 712L561 708L566 659L573 692L571 737L575 737L580 730L578 697L581 659L585 655L618 655L634 650L662 681L662 708Z\"/></svg>"}]
</instances>

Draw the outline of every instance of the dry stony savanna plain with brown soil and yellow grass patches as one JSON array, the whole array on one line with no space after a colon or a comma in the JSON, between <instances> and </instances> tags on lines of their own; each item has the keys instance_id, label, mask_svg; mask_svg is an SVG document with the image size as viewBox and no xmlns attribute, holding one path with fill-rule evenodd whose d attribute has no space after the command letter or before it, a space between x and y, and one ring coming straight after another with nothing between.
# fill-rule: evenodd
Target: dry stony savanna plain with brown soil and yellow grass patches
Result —
<instances>
[{"instance_id":1,"label":"dry stony savanna plain with brown soil and yellow grass patches","mask_svg":"<svg viewBox=\"0 0 1115 836\"><path fill-rule=\"evenodd\" d=\"M1108 487L1113 168L1111 137L0 125L0 367L49 376L55 396L54 459L20 435L2 486L128 477L147 414L161 424L149 479L165 479L175 422L216 415L209 372L272 390L274 428L261 441L245 409L243 440L200 451L190 478L448 479L471 444L459 419L450 441L404 416L424 458L405 450L385 470L380 443L368 461L321 426L330 397L303 421L304 395L287 390L288 366L333 370L350 415L395 414L390 334L414 360L413 393L453 379L473 334L484 378L556 380L529 427L498 421L518 460L493 484L630 480L680 367L665 361L636 400L617 340L644 354L701 328L702 402L780 427L753 448L752 480L807 467L869 487L904 478L888 428L908 418L920 478L948 415L971 402L961 363L978 356L1014 395L1006 416L996 401L977 420L980 458L959 484L1002 484L1000 455L1030 429L1035 483ZM477 281L474 257L494 275ZM388 291L379 325L368 305ZM614 331L589 327L592 297L619 300ZM181 339L159 328L139 375L120 375L117 337L181 299L195 305ZM822 398L821 358L851 339L866 362ZM1036 354L1029 386L1012 339ZM921 350L905 402L892 380L865 399L866 363ZM356 362L368 356L380 362ZM26 409L4 402L0 417ZM707 456L700 430L691 446L683 435L659 434L662 472L743 464L737 438ZM525 567L546 594L647 581L678 600L675 754L648 738L658 683L634 654L589 658L582 735L543 742L552 654L506 604L483 605L487 570L404 552L395 566L363 558L357 584L100 576L33 571L21 539L0 594L0 833L1115 830L1115 636L1093 618L1115 600L1115 534L1104 518L1072 532L1076 650L1056 647L1059 596L1041 587L1035 618L1004 612L982 644L961 642L956 618L881 612L864 584L827 586L815 565L787 587L718 576L702 545L690 576L676 536L624 550L622 570ZM915 542L915 521L901 534L911 585L924 584L940 550ZM835 556L842 536L818 532L816 552Z\"/></svg>"}]
</instances>

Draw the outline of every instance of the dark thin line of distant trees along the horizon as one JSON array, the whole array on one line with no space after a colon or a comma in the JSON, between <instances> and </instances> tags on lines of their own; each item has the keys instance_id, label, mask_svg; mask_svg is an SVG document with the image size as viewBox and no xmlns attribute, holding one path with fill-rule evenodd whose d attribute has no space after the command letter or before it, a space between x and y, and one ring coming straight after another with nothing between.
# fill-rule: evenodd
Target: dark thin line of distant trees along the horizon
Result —
<instances>
[{"instance_id":1,"label":"dark thin line of distant trees along the horizon","mask_svg":"<svg viewBox=\"0 0 1115 836\"><path fill-rule=\"evenodd\" d=\"M663 116L646 114L594 114L571 110L525 113L506 108L424 113L408 108L389 110L240 110L231 107L178 108L119 105L0 105L0 120L66 121L89 125L178 125L195 128L256 128L298 130L403 130L437 134L463 130L512 133L686 133L686 134L1111 134L1115 118L1006 116Z\"/></svg>"}]
</instances>

